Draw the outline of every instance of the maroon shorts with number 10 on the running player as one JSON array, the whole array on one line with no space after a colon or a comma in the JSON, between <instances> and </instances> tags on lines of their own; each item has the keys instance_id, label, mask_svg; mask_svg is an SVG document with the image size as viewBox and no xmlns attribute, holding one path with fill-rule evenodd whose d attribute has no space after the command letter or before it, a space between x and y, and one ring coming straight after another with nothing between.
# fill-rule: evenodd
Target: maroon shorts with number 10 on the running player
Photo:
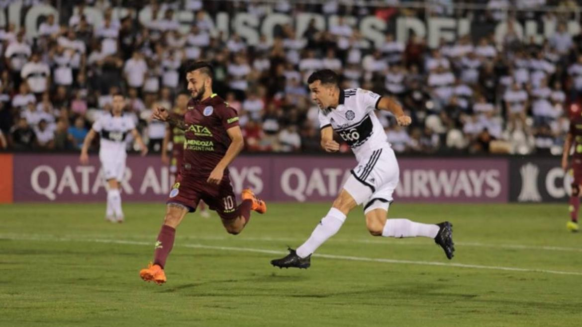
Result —
<instances>
[{"instance_id":1,"label":"maroon shorts with number 10 on the running player","mask_svg":"<svg viewBox=\"0 0 582 327\"><path fill-rule=\"evenodd\" d=\"M200 200L206 202L208 208L216 211L222 219L236 219L239 216L236 196L228 175L216 185L207 183L204 177L179 173L166 203L181 204L194 212Z\"/></svg>"}]
</instances>

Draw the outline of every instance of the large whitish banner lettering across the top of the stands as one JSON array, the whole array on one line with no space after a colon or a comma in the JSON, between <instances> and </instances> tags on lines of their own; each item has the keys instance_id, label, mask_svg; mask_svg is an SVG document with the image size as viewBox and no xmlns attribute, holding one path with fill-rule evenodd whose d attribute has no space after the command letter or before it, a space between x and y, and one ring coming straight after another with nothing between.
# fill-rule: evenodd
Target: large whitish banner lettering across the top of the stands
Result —
<instances>
[{"instance_id":1,"label":"large whitish banner lettering across the top of the stands","mask_svg":"<svg viewBox=\"0 0 582 327\"><path fill-rule=\"evenodd\" d=\"M56 8L50 5L38 5L30 7L26 14L23 15L24 22L20 12L23 8L22 0L13 2L8 9L0 11L0 26L5 26L6 22L20 26L24 23L27 37L36 37L38 34L38 22L41 16L55 15L58 19ZM127 15L127 8L114 8L114 17L123 17ZM8 19L6 17L8 13ZM98 8L87 7L85 9L88 21L94 26L101 26L103 22L103 12ZM145 6L137 12L139 21L144 24L151 22L151 6ZM158 17L163 17L163 13L158 13ZM194 22L194 13L188 10L178 10L174 13L174 18L179 20L181 29L184 33L190 30ZM259 19L250 13L240 12L230 16L226 12L218 13L215 17L208 17L214 26L214 34L222 32L223 37L229 37L232 31L236 31L248 44L257 44L260 35L265 35L267 41L272 41L274 30L277 25L292 24L297 35L303 35L309 22L315 19L315 26L320 29L329 29L338 22L338 16L324 16L319 13L299 13L294 16L283 13L269 13ZM350 24L353 29L358 30L361 35L368 41L368 45L379 45L384 41L384 35L387 32L388 24L375 16L364 16L361 18L346 17L346 23ZM414 31L416 35L427 39L430 47L437 47L439 40L454 41L457 37L471 33L471 22L469 19L450 18L450 17L429 17L427 20L421 20L416 17L396 17L395 37L399 42L406 42L410 32ZM580 24L574 20L567 22L567 29L570 34L580 33ZM538 41L544 37L551 36L556 30L556 20L526 20L524 22L514 23L514 30L520 38L534 37ZM501 22L495 27L495 39L498 42L503 40L503 35L507 31L507 23Z\"/></svg>"}]
</instances>

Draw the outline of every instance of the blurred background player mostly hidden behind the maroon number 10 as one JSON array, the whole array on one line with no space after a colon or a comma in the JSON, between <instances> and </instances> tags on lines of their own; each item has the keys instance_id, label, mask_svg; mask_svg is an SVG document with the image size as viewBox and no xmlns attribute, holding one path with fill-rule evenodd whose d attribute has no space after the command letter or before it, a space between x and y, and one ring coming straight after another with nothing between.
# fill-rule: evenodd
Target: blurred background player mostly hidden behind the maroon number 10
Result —
<instances>
[{"instance_id":1,"label":"blurred background player mostly hidden behind the maroon number 10","mask_svg":"<svg viewBox=\"0 0 582 327\"><path fill-rule=\"evenodd\" d=\"M190 96L187 93L178 94L176 98L176 108L174 108L174 113L176 115L183 116L186 114L188 101L190 101ZM166 165L170 165L170 173L176 180L180 168L182 168L182 163L184 162L184 130L178 127L172 127L168 124L166 129L166 135L164 141L162 142L162 162ZM172 159L168 158L168 145L172 142ZM200 201L198 205L200 209L200 215L204 218L210 218L210 212L206 209L204 201Z\"/></svg>"}]
</instances>

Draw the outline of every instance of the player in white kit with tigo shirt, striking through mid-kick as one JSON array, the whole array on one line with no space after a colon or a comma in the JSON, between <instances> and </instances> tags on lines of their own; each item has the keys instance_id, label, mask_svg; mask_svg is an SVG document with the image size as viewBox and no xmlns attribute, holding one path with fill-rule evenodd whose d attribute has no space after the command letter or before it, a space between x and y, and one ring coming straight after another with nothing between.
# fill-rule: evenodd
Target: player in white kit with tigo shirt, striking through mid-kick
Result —
<instances>
[{"instance_id":1,"label":"player in white kit with tigo shirt, striking through mid-kick","mask_svg":"<svg viewBox=\"0 0 582 327\"><path fill-rule=\"evenodd\" d=\"M449 222L425 224L403 218L387 219L392 193L399 179L396 156L386 139L384 128L374 110L393 113L400 126L410 125L402 107L388 97L361 88L340 90L338 75L329 69L318 70L307 80L311 99L320 107L321 147L327 152L339 150L333 131L352 148L358 161L328 214L297 250L271 264L279 268L308 268L311 254L342 227L346 215L357 205L363 205L365 222L372 236L430 237L451 259L452 225Z\"/></svg>"}]
</instances>

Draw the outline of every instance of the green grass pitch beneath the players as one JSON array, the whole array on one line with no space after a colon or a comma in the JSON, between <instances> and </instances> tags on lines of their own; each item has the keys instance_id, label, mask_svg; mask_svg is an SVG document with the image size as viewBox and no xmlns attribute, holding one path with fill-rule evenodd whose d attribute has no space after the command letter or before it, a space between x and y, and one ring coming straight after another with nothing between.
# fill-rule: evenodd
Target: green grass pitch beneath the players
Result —
<instances>
[{"instance_id":1,"label":"green grass pitch beneath the players","mask_svg":"<svg viewBox=\"0 0 582 327\"><path fill-rule=\"evenodd\" d=\"M392 217L454 225L456 256L430 239L372 237L361 209L307 270L278 269L329 204L269 204L238 236L190 214L143 282L165 206L0 206L0 326L581 326L582 233L567 204L394 204ZM325 256L327 255L327 256Z\"/></svg>"}]
</instances>

